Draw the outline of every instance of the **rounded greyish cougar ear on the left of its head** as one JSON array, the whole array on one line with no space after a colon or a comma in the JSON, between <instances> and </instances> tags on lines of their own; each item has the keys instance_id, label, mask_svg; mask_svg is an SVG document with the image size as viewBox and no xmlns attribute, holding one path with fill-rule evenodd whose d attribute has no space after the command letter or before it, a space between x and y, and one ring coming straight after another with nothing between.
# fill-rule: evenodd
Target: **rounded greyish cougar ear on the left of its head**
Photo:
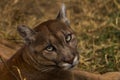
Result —
<instances>
[{"instance_id":1,"label":"rounded greyish cougar ear on the left of its head","mask_svg":"<svg viewBox=\"0 0 120 80\"><path fill-rule=\"evenodd\" d=\"M25 40L25 43L27 45L35 40L35 38L34 38L35 32L32 29L30 29L29 27L27 27L25 25L19 25L17 27L17 31L19 32L20 36L22 36L22 38Z\"/></svg>"}]
</instances>

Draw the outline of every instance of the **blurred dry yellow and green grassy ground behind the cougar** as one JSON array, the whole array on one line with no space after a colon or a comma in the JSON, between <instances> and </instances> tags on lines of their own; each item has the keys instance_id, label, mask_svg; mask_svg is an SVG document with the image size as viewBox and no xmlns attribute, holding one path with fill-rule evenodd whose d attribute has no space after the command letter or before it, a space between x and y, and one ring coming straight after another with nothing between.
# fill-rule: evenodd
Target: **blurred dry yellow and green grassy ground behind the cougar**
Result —
<instances>
[{"instance_id":1,"label":"blurred dry yellow and green grassy ground behind the cougar","mask_svg":"<svg viewBox=\"0 0 120 80\"><path fill-rule=\"evenodd\" d=\"M34 28L54 19L61 3L78 38L78 67L120 71L120 0L0 0L0 55L9 59L23 45L17 25Z\"/></svg>"}]
</instances>

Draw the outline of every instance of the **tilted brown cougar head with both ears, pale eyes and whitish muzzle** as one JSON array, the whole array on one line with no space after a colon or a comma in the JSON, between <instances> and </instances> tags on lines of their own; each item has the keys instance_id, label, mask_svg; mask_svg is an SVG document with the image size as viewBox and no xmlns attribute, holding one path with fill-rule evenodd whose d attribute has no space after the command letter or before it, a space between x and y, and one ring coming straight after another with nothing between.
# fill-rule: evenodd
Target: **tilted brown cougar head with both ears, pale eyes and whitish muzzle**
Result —
<instances>
[{"instance_id":1,"label":"tilted brown cougar head with both ears, pale eyes and whitish muzzle","mask_svg":"<svg viewBox=\"0 0 120 80\"><path fill-rule=\"evenodd\" d=\"M34 29L25 25L19 25L17 29L34 65L68 70L78 64L77 39L70 28L64 5L56 19L45 21Z\"/></svg>"}]
</instances>

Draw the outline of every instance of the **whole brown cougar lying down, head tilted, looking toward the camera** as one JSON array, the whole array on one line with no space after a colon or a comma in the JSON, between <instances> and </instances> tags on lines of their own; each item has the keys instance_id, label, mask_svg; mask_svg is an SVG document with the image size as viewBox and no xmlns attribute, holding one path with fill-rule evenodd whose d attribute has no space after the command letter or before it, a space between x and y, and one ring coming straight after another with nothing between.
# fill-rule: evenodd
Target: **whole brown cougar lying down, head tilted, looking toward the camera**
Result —
<instances>
[{"instance_id":1,"label":"whole brown cougar lying down, head tilted, looking toward the camera","mask_svg":"<svg viewBox=\"0 0 120 80\"><path fill-rule=\"evenodd\" d=\"M54 20L17 30L25 45L0 66L0 80L120 80L119 72L101 75L74 68L79 53L65 5Z\"/></svg>"}]
</instances>

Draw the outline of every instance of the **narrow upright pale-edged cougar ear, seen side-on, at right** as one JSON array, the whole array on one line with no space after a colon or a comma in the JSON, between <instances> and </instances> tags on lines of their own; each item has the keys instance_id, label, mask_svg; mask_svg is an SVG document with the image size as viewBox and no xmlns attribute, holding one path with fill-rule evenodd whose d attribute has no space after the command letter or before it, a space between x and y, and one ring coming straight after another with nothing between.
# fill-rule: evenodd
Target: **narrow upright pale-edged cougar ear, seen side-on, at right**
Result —
<instances>
[{"instance_id":1,"label":"narrow upright pale-edged cougar ear, seen side-on, at right","mask_svg":"<svg viewBox=\"0 0 120 80\"><path fill-rule=\"evenodd\" d=\"M61 9L56 17L56 19L61 20L67 25L70 25L70 21L66 17L66 7L64 4L62 4Z\"/></svg>"}]
</instances>

